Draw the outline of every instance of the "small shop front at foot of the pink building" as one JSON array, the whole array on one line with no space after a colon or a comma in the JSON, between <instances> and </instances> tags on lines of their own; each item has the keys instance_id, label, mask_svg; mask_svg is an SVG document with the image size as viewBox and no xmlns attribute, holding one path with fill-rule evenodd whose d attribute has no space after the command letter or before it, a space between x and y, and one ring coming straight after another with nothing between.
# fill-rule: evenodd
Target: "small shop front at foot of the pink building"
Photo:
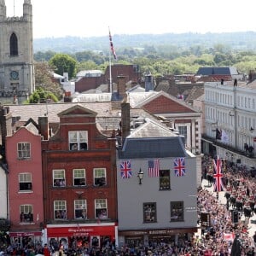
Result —
<instances>
[{"instance_id":1,"label":"small shop front at foot of the pink building","mask_svg":"<svg viewBox=\"0 0 256 256\"><path fill-rule=\"evenodd\" d=\"M27 244L42 244L42 230L9 232L10 242L25 247Z\"/></svg>"}]
</instances>

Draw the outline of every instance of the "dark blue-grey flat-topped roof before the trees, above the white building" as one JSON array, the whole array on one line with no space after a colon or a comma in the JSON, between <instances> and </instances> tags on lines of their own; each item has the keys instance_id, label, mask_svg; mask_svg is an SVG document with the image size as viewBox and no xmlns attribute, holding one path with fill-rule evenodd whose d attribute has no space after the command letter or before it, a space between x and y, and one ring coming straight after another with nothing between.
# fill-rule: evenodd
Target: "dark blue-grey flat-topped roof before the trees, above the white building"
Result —
<instances>
[{"instance_id":1,"label":"dark blue-grey flat-topped roof before the trees, above the white building","mask_svg":"<svg viewBox=\"0 0 256 256\"><path fill-rule=\"evenodd\" d=\"M196 75L237 75L236 67L200 67Z\"/></svg>"}]
</instances>

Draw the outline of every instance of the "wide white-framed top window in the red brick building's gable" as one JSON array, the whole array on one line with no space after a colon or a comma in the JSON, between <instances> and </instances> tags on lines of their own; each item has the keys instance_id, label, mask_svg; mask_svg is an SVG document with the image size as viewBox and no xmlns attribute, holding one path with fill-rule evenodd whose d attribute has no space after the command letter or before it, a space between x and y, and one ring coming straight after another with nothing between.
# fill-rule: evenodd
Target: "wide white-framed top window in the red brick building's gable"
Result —
<instances>
[{"instance_id":1,"label":"wide white-framed top window in the red brick building's gable","mask_svg":"<svg viewBox=\"0 0 256 256\"><path fill-rule=\"evenodd\" d=\"M68 131L69 150L87 150L88 132L87 131Z\"/></svg>"}]
</instances>

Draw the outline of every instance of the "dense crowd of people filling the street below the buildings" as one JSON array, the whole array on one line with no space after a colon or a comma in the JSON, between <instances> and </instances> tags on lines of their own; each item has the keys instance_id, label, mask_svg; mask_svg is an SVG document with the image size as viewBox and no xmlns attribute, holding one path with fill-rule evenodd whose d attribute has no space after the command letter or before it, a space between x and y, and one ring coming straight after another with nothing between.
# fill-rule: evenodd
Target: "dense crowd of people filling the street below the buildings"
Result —
<instances>
[{"instance_id":1,"label":"dense crowd of people filling the street below the buildings","mask_svg":"<svg viewBox=\"0 0 256 256\"><path fill-rule=\"evenodd\" d=\"M43 254L46 256L56 255L183 255L183 256L234 256L234 255L254 255L256 244L256 232L254 236L249 236L249 220L255 214L253 204L256 196L255 177L251 176L246 166L235 165L232 162L225 162L223 166L223 181L227 188L225 192L225 201L220 201L218 192L212 191L212 183L206 186L202 185L198 189L197 211L198 225L201 232L195 233L194 236L188 237L187 240L178 240L175 242L151 243L145 247L115 247L114 243L106 242L102 247L88 246L88 243L82 243L77 247L73 242L72 247L63 247L58 245L53 247L52 244L41 245L28 244L26 247L2 247L1 255L24 255L34 256ZM209 170L211 170L212 158L204 156L202 160L202 181L206 183ZM230 195L228 195L230 193ZM232 198L235 198L235 204ZM223 197L222 197L223 198ZM241 198L241 199L240 199ZM238 208L237 201L241 200L241 207ZM249 203L252 211L245 215L244 209ZM239 212L239 220L234 223L232 211ZM204 224L201 221L201 213L207 212L209 223ZM49 247L48 247L49 246ZM256 254L256 253L255 253Z\"/></svg>"}]
</instances>

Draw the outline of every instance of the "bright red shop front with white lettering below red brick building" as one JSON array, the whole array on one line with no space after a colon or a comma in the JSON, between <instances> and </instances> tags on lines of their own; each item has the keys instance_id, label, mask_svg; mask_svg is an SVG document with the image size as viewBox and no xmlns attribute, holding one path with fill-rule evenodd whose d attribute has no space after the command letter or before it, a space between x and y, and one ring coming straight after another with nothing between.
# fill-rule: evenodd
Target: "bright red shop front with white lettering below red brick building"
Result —
<instances>
[{"instance_id":1,"label":"bright red shop front with white lettering below red brick building","mask_svg":"<svg viewBox=\"0 0 256 256\"><path fill-rule=\"evenodd\" d=\"M102 247L115 245L117 225L108 224L48 224L47 242L51 247Z\"/></svg>"}]
</instances>

